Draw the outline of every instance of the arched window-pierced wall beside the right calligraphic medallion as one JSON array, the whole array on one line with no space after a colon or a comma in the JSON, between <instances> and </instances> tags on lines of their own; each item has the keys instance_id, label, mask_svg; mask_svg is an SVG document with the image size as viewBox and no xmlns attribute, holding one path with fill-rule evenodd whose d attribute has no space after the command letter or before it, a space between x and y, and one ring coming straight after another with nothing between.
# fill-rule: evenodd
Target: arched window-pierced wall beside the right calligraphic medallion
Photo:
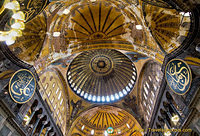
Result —
<instances>
[{"instance_id":1,"label":"arched window-pierced wall beside the right calligraphic medallion","mask_svg":"<svg viewBox=\"0 0 200 136\"><path fill-rule=\"evenodd\" d=\"M150 60L144 64L139 78L141 91L141 104L144 110L144 118L150 121L153 107L157 98L158 89L161 84L163 73L161 65Z\"/></svg>"}]
</instances>

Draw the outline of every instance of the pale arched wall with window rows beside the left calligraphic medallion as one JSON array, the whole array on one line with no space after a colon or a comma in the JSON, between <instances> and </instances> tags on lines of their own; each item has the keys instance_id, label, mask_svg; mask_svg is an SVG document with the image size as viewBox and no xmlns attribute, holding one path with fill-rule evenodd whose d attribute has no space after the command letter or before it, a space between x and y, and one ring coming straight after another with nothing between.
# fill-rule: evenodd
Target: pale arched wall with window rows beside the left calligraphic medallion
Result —
<instances>
[{"instance_id":1,"label":"pale arched wall with window rows beside the left calligraphic medallion","mask_svg":"<svg viewBox=\"0 0 200 136\"><path fill-rule=\"evenodd\" d=\"M67 134L67 122L69 122L69 96L66 90L66 82L57 69L51 68L39 75L40 93L44 101L50 107L56 124L62 132Z\"/></svg>"}]
</instances>

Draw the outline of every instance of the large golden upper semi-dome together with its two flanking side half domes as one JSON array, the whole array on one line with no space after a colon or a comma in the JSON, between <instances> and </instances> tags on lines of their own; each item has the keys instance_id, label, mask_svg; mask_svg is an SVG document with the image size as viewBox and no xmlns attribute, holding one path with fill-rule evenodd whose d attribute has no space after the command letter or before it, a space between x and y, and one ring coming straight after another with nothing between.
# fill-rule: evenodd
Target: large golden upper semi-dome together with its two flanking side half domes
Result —
<instances>
[{"instance_id":1,"label":"large golden upper semi-dome together with its two flanking side half domes","mask_svg":"<svg viewBox=\"0 0 200 136\"><path fill-rule=\"evenodd\" d=\"M44 10L46 20L27 23L26 38L9 48L26 62L44 65L39 69L72 54L104 48L138 52L162 63L183 43L191 20L166 3L151 4L140 0L52 2Z\"/></svg>"}]
</instances>

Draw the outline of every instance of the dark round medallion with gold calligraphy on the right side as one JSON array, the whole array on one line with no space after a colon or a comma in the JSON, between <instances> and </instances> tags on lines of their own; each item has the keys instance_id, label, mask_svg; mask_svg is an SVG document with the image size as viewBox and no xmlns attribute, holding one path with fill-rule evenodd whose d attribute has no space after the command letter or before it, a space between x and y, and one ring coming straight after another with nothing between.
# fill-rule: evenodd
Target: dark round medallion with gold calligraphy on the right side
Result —
<instances>
[{"instance_id":1,"label":"dark round medallion with gold calligraphy on the right side","mask_svg":"<svg viewBox=\"0 0 200 136\"><path fill-rule=\"evenodd\" d=\"M192 74L189 66L181 59L168 62L165 69L165 78L172 91L184 95L190 89Z\"/></svg>"}]
</instances>

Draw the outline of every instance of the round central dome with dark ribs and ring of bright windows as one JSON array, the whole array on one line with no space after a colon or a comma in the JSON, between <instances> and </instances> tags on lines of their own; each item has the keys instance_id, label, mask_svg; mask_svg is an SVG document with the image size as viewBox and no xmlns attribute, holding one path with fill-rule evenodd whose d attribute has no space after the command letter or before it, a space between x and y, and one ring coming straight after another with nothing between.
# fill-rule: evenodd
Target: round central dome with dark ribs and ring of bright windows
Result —
<instances>
[{"instance_id":1,"label":"round central dome with dark ribs and ring of bright windows","mask_svg":"<svg viewBox=\"0 0 200 136\"><path fill-rule=\"evenodd\" d=\"M67 80L83 99L95 103L114 102L134 87L137 70L123 53L111 49L85 51L70 64Z\"/></svg>"}]
</instances>

